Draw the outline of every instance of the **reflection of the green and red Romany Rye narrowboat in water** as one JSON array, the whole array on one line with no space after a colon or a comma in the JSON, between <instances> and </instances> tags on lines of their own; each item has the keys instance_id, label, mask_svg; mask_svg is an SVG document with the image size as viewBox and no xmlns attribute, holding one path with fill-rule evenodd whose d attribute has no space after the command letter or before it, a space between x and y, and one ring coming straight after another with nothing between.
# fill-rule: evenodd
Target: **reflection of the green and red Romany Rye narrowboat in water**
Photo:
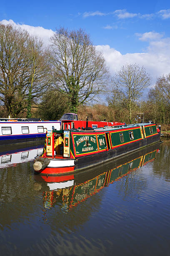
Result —
<instances>
[{"instance_id":1,"label":"reflection of the green and red Romany Rye narrowboat in water","mask_svg":"<svg viewBox=\"0 0 170 256\"><path fill-rule=\"evenodd\" d=\"M103 164L100 168L87 169L82 173L57 177L35 175L38 190L45 190L43 192L44 207L50 208L57 203L62 209L70 210L87 197L99 192L103 187L153 161L159 151L158 146L150 146L139 151L138 154Z\"/></svg>"}]
</instances>

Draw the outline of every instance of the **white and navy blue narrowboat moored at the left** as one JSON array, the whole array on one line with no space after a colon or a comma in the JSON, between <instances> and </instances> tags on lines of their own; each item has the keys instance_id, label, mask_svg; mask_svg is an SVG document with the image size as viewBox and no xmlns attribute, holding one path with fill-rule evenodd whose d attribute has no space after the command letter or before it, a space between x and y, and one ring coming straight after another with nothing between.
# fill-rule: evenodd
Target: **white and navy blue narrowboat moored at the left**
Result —
<instances>
[{"instance_id":1,"label":"white and navy blue narrowboat moored at the left","mask_svg":"<svg viewBox=\"0 0 170 256\"><path fill-rule=\"evenodd\" d=\"M46 130L60 129L61 121L40 119L0 119L0 145L45 141Z\"/></svg>"}]
</instances>

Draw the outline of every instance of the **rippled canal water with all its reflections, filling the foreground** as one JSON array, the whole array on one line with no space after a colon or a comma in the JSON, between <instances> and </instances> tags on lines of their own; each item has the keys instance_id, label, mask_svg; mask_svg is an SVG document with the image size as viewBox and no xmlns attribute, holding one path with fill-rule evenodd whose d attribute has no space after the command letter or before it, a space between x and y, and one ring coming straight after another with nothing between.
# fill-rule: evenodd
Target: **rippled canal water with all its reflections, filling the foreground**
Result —
<instances>
[{"instance_id":1,"label":"rippled canal water with all its reflections, filling the foreground","mask_svg":"<svg viewBox=\"0 0 170 256\"><path fill-rule=\"evenodd\" d=\"M170 255L170 141L62 177L34 174L40 154L1 148L1 256Z\"/></svg>"}]
</instances>

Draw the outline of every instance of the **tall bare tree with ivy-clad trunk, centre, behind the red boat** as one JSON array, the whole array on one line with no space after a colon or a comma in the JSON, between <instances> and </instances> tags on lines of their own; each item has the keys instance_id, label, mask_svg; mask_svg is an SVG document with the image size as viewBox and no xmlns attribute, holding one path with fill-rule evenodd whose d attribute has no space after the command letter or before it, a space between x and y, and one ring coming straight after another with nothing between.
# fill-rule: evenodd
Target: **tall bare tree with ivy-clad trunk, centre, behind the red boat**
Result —
<instances>
[{"instance_id":1,"label":"tall bare tree with ivy-clad trunk, centre, behind the red boat","mask_svg":"<svg viewBox=\"0 0 170 256\"><path fill-rule=\"evenodd\" d=\"M77 113L80 104L95 100L104 90L109 74L105 59L82 29L60 28L51 43L55 85L69 97L70 111Z\"/></svg>"}]
</instances>

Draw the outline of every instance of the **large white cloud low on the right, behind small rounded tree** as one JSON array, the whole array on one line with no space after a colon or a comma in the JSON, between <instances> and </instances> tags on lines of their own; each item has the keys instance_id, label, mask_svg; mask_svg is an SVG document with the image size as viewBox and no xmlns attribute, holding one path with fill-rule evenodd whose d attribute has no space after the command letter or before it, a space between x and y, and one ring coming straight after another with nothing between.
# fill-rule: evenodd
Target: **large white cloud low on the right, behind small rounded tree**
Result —
<instances>
[{"instance_id":1,"label":"large white cloud low on the right, behind small rounded tree","mask_svg":"<svg viewBox=\"0 0 170 256\"><path fill-rule=\"evenodd\" d=\"M170 73L170 38L159 42L151 42L148 51L145 53L121 54L120 51L110 48L109 45L98 45L96 49L103 52L112 76L125 63L144 66L153 77L153 84L157 77Z\"/></svg>"}]
</instances>

